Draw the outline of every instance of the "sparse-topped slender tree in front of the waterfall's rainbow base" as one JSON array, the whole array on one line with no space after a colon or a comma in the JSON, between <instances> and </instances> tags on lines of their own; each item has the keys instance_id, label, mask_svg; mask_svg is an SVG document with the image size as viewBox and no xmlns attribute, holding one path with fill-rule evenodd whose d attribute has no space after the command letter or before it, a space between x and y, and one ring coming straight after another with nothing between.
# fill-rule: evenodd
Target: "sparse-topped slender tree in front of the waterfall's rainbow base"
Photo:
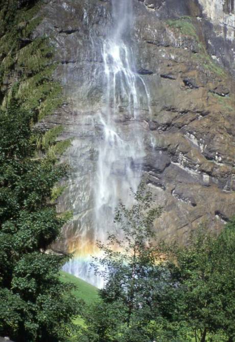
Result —
<instances>
[{"instance_id":1,"label":"sparse-topped slender tree in front of the waterfall's rainbow base","mask_svg":"<svg viewBox=\"0 0 235 342\"><path fill-rule=\"evenodd\" d=\"M87 329L79 340L146 342L160 335L158 341L185 341L171 324L177 316L174 275L166 263L156 262L152 227L162 208L153 208L152 203L151 192L140 184L133 206L128 209L120 202L117 208L119 237L112 234L106 244L98 242L103 256L94 264L105 286L101 302L87 314Z\"/></svg>"}]
</instances>

